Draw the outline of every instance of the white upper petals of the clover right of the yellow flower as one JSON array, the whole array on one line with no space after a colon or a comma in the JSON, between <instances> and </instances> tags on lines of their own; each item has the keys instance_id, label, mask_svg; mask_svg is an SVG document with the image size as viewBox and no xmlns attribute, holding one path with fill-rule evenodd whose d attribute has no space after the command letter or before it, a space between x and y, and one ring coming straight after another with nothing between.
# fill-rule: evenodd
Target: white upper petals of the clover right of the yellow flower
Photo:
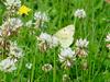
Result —
<instances>
[{"instance_id":1,"label":"white upper petals of the clover right of the yellow flower","mask_svg":"<svg viewBox=\"0 0 110 82\"><path fill-rule=\"evenodd\" d=\"M48 16L46 15L46 13L45 12L42 13L41 11L34 13L34 19L35 20L41 20L43 22L47 22L48 21Z\"/></svg>"}]
</instances>

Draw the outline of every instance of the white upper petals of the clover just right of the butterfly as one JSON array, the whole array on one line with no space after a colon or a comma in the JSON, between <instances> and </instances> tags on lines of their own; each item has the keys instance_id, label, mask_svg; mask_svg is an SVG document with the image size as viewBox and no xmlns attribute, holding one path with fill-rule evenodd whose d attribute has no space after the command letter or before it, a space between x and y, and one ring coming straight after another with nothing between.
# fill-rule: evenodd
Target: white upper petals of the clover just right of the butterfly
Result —
<instances>
[{"instance_id":1,"label":"white upper petals of the clover just right of the butterfly","mask_svg":"<svg viewBox=\"0 0 110 82\"><path fill-rule=\"evenodd\" d=\"M80 39L77 39L76 40L76 44L75 45L77 47L80 47L80 48L87 48L88 44L89 44L89 42L87 39L80 38Z\"/></svg>"}]
</instances>

